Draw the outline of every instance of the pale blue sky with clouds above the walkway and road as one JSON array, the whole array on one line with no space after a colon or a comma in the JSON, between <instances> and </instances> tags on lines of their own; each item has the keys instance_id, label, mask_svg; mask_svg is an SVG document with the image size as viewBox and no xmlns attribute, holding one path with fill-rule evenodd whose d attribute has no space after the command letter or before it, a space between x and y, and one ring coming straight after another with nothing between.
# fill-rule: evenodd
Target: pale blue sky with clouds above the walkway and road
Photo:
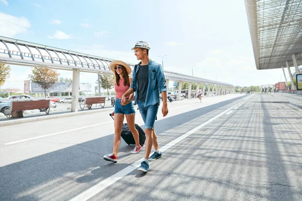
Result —
<instances>
[{"instance_id":1,"label":"pale blue sky with clouds above the walkway and road","mask_svg":"<svg viewBox=\"0 0 302 201\"><path fill-rule=\"evenodd\" d=\"M256 69L242 0L0 0L0 36L131 63L131 48L144 40L164 70L240 86L284 81L280 68ZM23 89L31 68L11 68L3 88ZM80 75L93 86L96 79Z\"/></svg>"}]
</instances>

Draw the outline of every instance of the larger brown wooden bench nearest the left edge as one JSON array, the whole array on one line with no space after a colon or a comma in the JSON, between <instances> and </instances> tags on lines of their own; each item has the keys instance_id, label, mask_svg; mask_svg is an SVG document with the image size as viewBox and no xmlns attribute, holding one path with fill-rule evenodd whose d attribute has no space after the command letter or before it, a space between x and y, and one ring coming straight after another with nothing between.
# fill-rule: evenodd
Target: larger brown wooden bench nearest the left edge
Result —
<instances>
[{"instance_id":1,"label":"larger brown wooden bench nearest the left edge","mask_svg":"<svg viewBox=\"0 0 302 201\"><path fill-rule=\"evenodd\" d=\"M48 115L50 108L50 100L17 100L11 102L10 113L7 118L11 118L15 111L44 109L44 112Z\"/></svg>"}]
</instances>

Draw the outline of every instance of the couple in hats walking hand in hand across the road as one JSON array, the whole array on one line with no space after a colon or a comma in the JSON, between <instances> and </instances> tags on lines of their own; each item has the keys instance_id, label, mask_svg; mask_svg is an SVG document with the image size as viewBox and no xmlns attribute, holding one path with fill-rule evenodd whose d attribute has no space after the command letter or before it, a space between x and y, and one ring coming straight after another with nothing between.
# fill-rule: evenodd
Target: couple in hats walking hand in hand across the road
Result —
<instances>
[{"instance_id":1,"label":"couple in hats walking hand in hand across the road","mask_svg":"<svg viewBox=\"0 0 302 201\"><path fill-rule=\"evenodd\" d=\"M135 129L135 110L132 104L132 98L135 92L134 105L138 105L139 113L144 122L145 129L145 154L138 171L147 172L149 161L162 157L162 152L157 142L157 135L154 129L154 123L160 106L160 93L163 97L162 113L165 117L168 114L167 106L167 86L164 71L161 64L149 59L149 46L145 41L137 41L132 48L134 55L140 62L135 65L132 77L131 68L123 61L112 61L109 64L110 69L115 75L114 88L116 93L115 108L112 115L114 118L114 140L113 153L104 156L107 161L117 162L118 149L121 141L121 132L124 117L131 131L135 147L132 154L141 150L139 145L138 131ZM155 152L149 157L152 146Z\"/></svg>"}]
</instances>

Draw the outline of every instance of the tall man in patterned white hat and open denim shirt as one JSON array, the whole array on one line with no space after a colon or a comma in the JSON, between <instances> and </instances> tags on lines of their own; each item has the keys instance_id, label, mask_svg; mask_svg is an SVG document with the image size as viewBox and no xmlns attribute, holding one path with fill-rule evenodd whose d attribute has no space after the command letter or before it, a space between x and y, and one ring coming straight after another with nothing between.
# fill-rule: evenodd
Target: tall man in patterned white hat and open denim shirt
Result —
<instances>
[{"instance_id":1,"label":"tall man in patterned white hat and open denim shirt","mask_svg":"<svg viewBox=\"0 0 302 201\"><path fill-rule=\"evenodd\" d=\"M162 157L162 152L157 142L157 135L154 129L154 122L160 105L160 92L163 97L162 113L165 117L168 114L167 86L164 71L161 64L149 59L149 46L145 41L137 41L134 55L140 62L133 69L133 80L130 88L122 96L122 101L135 91L134 105L138 104L139 112L145 124L145 155L138 171L147 172L149 162ZM155 152L149 157L152 145Z\"/></svg>"}]
</instances>

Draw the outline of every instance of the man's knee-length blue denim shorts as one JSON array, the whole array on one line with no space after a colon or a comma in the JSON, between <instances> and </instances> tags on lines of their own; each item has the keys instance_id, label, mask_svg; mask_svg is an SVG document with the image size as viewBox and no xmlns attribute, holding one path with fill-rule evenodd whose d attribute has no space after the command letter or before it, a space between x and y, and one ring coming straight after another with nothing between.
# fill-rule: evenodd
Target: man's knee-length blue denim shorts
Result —
<instances>
[{"instance_id":1,"label":"man's knee-length blue denim shorts","mask_svg":"<svg viewBox=\"0 0 302 201\"><path fill-rule=\"evenodd\" d=\"M138 100L138 109L139 113L142 117L142 120L145 124L145 129L153 129L154 122L159 111L160 104L156 104L153 106L149 106L147 108L144 107L144 102Z\"/></svg>"}]
</instances>

